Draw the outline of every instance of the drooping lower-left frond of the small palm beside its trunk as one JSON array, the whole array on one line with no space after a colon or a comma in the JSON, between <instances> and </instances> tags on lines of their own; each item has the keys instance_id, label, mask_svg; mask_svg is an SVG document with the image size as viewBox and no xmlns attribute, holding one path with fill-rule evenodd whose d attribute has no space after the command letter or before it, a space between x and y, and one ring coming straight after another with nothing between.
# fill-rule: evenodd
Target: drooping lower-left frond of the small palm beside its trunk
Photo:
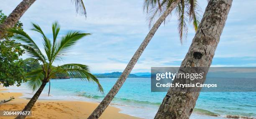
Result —
<instances>
[{"instance_id":1,"label":"drooping lower-left frond of the small palm beside its trunk","mask_svg":"<svg viewBox=\"0 0 256 119\"><path fill-rule=\"evenodd\" d=\"M28 88L30 88L33 92L36 91L41 86L44 76L45 74L43 69L36 69L27 73L26 78L28 79Z\"/></svg>"}]
</instances>

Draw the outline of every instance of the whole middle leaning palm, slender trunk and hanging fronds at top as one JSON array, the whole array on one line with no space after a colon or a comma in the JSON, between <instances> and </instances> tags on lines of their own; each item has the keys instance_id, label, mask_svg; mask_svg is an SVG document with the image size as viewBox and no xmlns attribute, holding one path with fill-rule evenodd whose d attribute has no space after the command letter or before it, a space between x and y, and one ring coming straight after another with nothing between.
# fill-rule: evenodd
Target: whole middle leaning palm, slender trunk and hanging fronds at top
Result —
<instances>
[{"instance_id":1,"label":"whole middle leaning palm, slender trunk and hanging fronds at top","mask_svg":"<svg viewBox=\"0 0 256 119\"><path fill-rule=\"evenodd\" d=\"M144 10L147 10L148 14L151 15L151 19L149 19L150 22L153 22L154 17L157 14L160 14L161 16L159 19L155 22L151 30L148 32L148 35L145 37L143 42L141 43L140 47L138 47L138 50L135 52L133 57L131 58L130 62L127 64L126 68L124 69L121 76L116 81L115 85L110 89L108 94L104 97L102 102L98 105L98 107L92 112L92 114L87 119L98 119L100 115L104 112L104 110L108 107L110 102L113 100L115 95L118 93L120 88L122 87L123 83L125 82L128 75L131 73L131 70L135 66L136 62L138 61L139 57L141 56L142 52L145 50L146 46L156 33L156 30L159 28L162 22L165 21L166 17L176 8L176 12L178 13L179 17L179 34L180 34L180 40L182 41L183 33L187 33L187 27L186 27L186 14L189 16L190 21L193 21L193 25L195 27L195 30L197 30L197 4L196 0L146 0L144 5ZM156 8L156 6L158 7ZM189 11L186 11L187 6L189 6ZM156 9L155 9L156 8ZM154 9L154 10L151 10ZM165 10L164 12L161 12L162 10ZM151 11L154 11L152 14Z\"/></svg>"}]
</instances>

